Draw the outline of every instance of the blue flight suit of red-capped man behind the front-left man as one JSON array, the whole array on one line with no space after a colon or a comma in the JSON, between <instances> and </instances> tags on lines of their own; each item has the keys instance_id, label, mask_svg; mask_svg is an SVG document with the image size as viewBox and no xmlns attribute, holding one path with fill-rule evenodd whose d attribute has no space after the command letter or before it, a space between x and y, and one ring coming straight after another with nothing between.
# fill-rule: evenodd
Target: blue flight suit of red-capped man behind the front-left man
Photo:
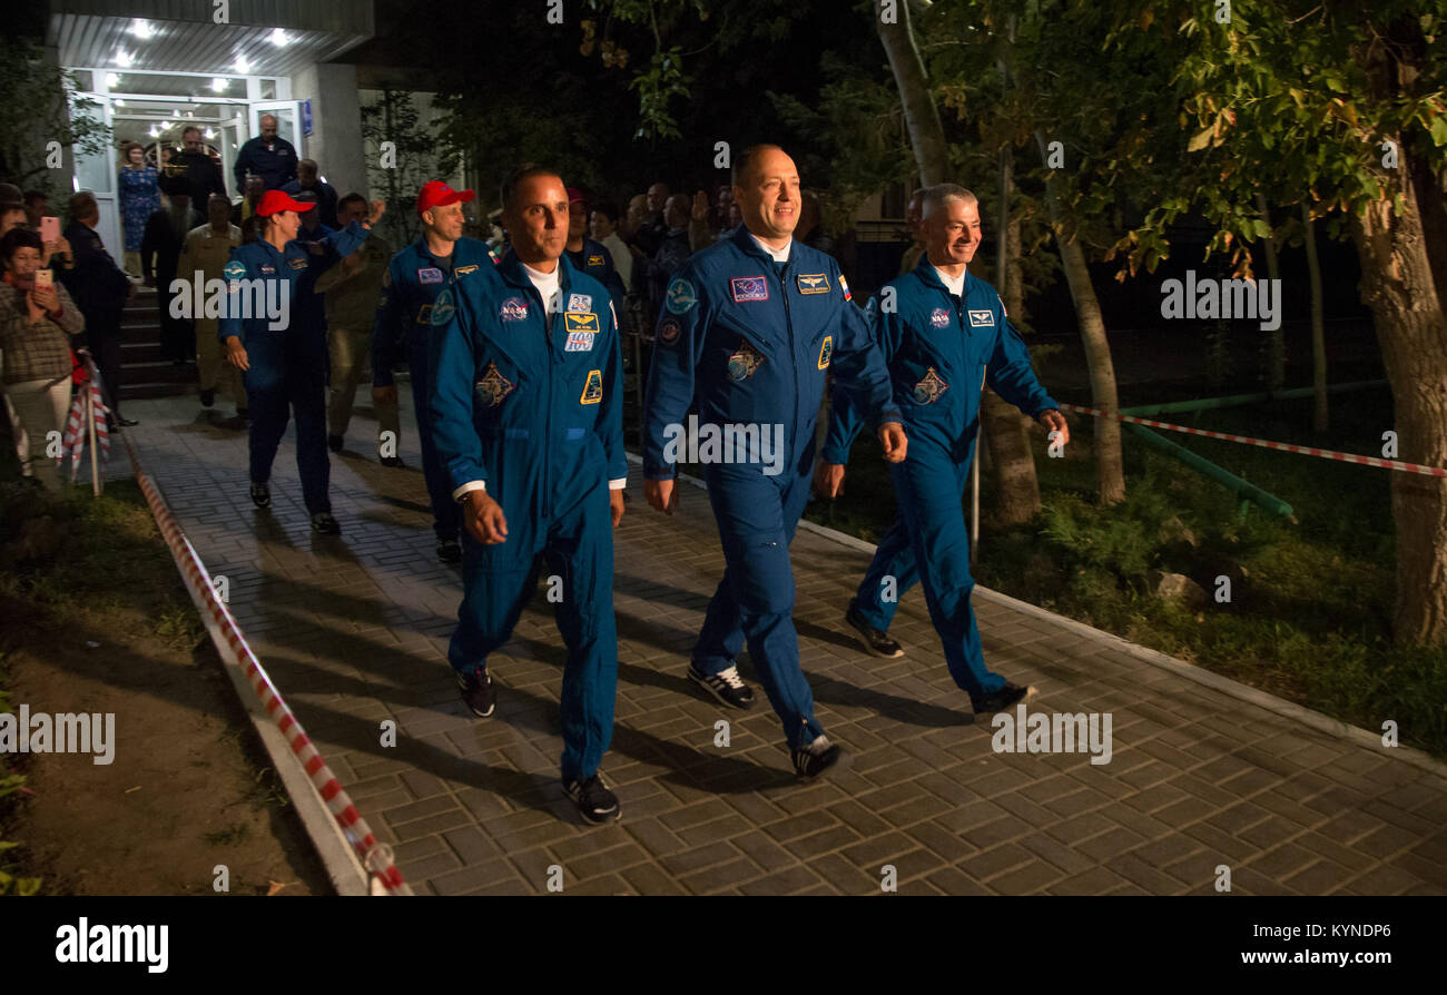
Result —
<instances>
[{"instance_id":1,"label":"blue flight suit of red-capped man behind the front-left man","mask_svg":"<svg viewBox=\"0 0 1447 995\"><path fill-rule=\"evenodd\" d=\"M462 512L451 498L447 469L433 444L431 418L427 414L428 343L433 330L433 305L454 279L470 278L492 269L498 260L488 244L476 239L457 239L451 256L433 256L427 236L407 246L382 275L382 298L372 325L372 386L392 385L392 359L404 336L407 362L412 375L412 411L417 415L417 440L423 448L423 479L433 505L433 531L438 539L456 539ZM401 440L398 440L401 441Z\"/></svg>"}]
</instances>

